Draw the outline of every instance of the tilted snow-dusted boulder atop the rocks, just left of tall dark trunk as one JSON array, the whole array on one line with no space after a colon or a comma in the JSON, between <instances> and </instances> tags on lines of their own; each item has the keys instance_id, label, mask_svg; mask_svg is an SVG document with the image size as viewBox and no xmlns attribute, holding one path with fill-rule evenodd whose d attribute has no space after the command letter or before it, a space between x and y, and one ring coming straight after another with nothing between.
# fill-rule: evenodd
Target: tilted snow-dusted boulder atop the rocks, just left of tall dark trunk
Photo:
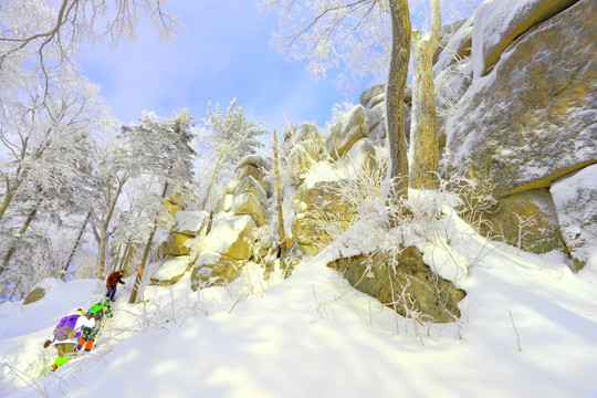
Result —
<instances>
[{"instance_id":1,"label":"tilted snow-dusted boulder atop the rocks, just left of tall dark trunk","mask_svg":"<svg viewBox=\"0 0 597 398\"><path fill-rule=\"evenodd\" d=\"M365 109L362 105L357 105L332 126L332 132L325 140L325 148L335 160L346 154L357 140L368 136Z\"/></svg>"}]
</instances>

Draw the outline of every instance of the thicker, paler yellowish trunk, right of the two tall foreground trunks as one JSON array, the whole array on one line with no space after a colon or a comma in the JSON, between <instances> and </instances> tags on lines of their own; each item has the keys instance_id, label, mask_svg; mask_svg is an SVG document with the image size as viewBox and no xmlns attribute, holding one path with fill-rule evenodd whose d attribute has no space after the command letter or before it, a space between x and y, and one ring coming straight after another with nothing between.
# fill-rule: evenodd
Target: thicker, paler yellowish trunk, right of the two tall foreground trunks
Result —
<instances>
[{"instance_id":1,"label":"thicker, paler yellowish trunk, right of the two tall foreground trunks","mask_svg":"<svg viewBox=\"0 0 597 398\"><path fill-rule=\"evenodd\" d=\"M412 125L410 128L412 165L410 187L439 188L439 147L436 121L436 88L433 86L432 57L441 33L439 0L430 0L431 32L423 35L412 32L415 75L412 77Z\"/></svg>"}]
</instances>

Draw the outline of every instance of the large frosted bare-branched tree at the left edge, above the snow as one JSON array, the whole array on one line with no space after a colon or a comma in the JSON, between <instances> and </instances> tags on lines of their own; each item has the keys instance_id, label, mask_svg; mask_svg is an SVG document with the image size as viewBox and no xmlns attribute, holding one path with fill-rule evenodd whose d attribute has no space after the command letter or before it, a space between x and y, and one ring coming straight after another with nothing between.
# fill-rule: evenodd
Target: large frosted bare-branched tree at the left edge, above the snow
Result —
<instances>
[{"instance_id":1,"label":"large frosted bare-branched tree at the left edge, above the snow","mask_svg":"<svg viewBox=\"0 0 597 398\"><path fill-rule=\"evenodd\" d=\"M95 87L77 75L54 83L45 94L39 86L30 87L28 96L0 103L0 221L1 229L18 231L15 239L22 239L33 221L31 214L66 208L76 212L91 190L88 159L103 116L102 102ZM29 216L21 218L20 227L4 222L6 217L14 220L23 208ZM9 249L0 274L17 249L2 243Z\"/></svg>"}]
</instances>

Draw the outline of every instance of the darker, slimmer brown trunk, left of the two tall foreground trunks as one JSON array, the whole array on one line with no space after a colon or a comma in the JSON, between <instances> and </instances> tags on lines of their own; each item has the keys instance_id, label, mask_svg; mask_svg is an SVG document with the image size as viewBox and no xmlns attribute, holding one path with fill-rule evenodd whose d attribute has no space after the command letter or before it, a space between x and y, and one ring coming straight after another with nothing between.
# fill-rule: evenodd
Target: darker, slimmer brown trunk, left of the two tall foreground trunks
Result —
<instances>
[{"instance_id":1,"label":"darker, slimmer brown trunk, left of the two tall foreground trunks","mask_svg":"<svg viewBox=\"0 0 597 398\"><path fill-rule=\"evenodd\" d=\"M408 0L390 0L391 54L386 85L386 121L388 136L388 177L398 178L399 196L408 195L408 154L402 106L410 57L410 15Z\"/></svg>"}]
</instances>

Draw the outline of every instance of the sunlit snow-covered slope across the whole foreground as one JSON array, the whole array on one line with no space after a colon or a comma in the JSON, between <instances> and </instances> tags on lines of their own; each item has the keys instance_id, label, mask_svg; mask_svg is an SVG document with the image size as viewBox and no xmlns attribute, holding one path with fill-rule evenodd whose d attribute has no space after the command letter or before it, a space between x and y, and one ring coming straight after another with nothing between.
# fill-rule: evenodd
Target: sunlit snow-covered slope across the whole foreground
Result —
<instances>
[{"instance_id":1,"label":"sunlit snow-covered slope across the whole foreground","mask_svg":"<svg viewBox=\"0 0 597 398\"><path fill-rule=\"evenodd\" d=\"M0 396L596 397L597 255L574 274L558 253L484 254L460 281L460 325L430 329L352 289L325 252L287 280L250 264L230 286L191 292L186 275L136 306L128 280L96 348L42 377L54 324L104 293L101 281L49 283L40 302L0 306Z\"/></svg>"}]
</instances>

